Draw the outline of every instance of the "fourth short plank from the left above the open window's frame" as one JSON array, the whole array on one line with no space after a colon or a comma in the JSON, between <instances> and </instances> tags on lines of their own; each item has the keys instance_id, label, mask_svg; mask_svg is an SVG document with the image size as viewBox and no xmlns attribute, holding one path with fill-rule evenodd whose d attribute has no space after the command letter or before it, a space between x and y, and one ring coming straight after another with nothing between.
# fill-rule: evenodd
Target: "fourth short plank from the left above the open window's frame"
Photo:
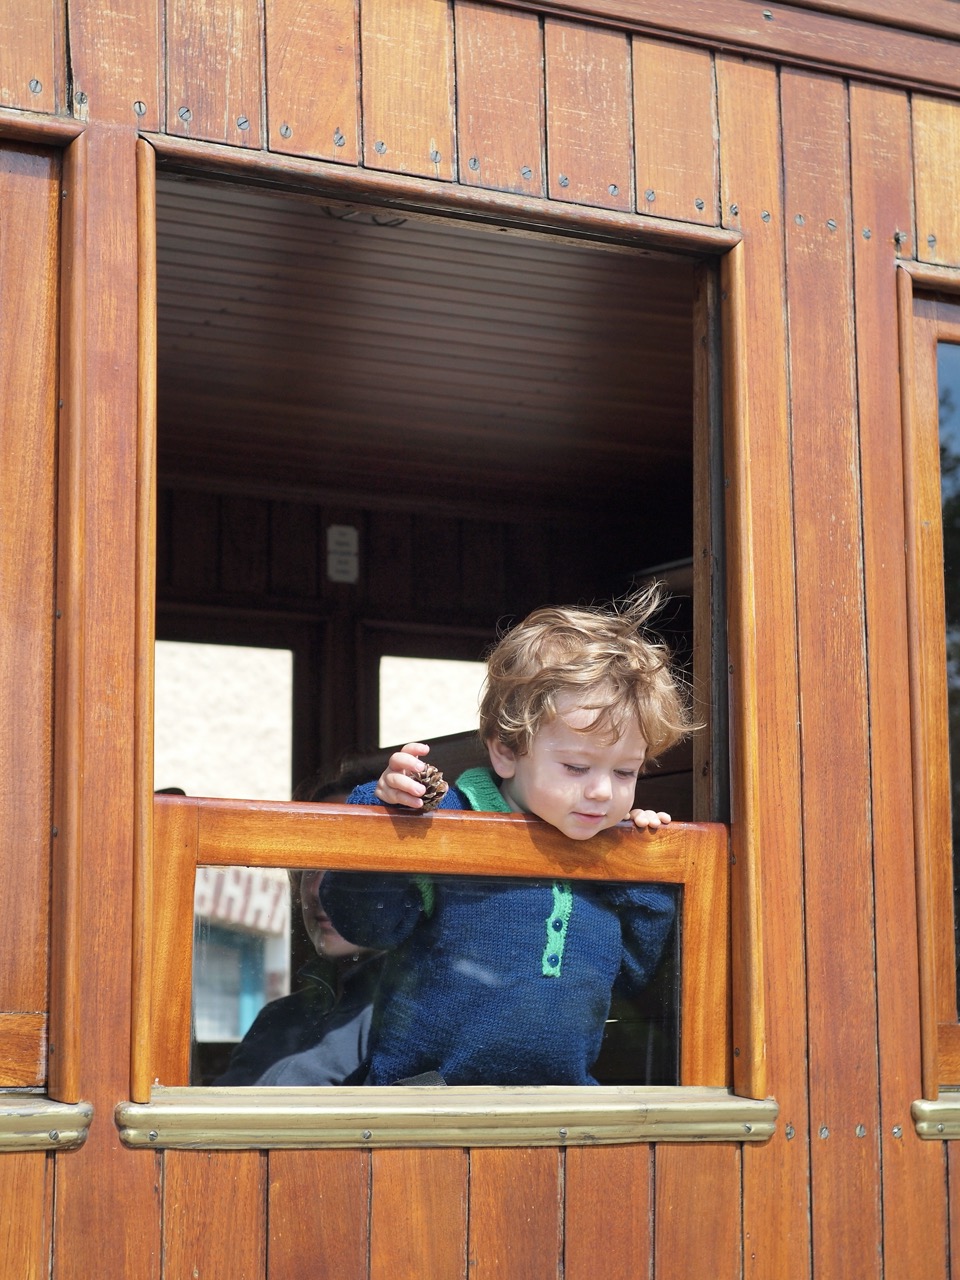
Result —
<instances>
[{"instance_id":1,"label":"fourth short plank from the left above the open window's frame","mask_svg":"<svg viewBox=\"0 0 960 1280\"><path fill-rule=\"evenodd\" d=\"M460 180L544 195L540 19L457 0Z\"/></svg>"}]
</instances>

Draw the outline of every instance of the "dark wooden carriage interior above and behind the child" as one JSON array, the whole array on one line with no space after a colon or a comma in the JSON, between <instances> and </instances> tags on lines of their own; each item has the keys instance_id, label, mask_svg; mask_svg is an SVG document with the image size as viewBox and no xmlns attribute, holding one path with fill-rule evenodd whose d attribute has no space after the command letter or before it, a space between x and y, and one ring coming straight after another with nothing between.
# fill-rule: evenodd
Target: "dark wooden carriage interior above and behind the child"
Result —
<instances>
[{"instance_id":1,"label":"dark wooden carriage interior above and behind the child","mask_svg":"<svg viewBox=\"0 0 960 1280\"><path fill-rule=\"evenodd\" d=\"M694 293L684 257L160 175L157 637L293 649L294 782L376 748L381 654L476 659L653 567L689 658ZM689 746L655 781L692 817Z\"/></svg>"}]
</instances>

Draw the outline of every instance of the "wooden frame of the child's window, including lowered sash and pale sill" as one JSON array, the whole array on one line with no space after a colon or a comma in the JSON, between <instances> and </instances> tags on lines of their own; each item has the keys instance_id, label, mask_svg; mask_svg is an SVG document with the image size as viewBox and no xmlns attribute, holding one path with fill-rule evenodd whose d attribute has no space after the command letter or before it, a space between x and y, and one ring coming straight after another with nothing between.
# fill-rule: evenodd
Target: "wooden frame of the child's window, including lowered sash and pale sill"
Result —
<instances>
[{"instance_id":1,"label":"wooden frame of the child's window, including lowered sash and pale sill","mask_svg":"<svg viewBox=\"0 0 960 1280\"><path fill-rule=\"evenodd\" d=\"M116 1108L122 1140L133 1147L310 1147L310 1146L564 1146L596 1142L764 1140L773 1133L777 1103L767 1097L760 911L756 865L758 831L758 691L756 639L753 631L754 544L746 448L744 387L745 283L739 234L718 228L658 221L643 237L631 215L598 210L561 212L558 229L621 243L654 243L668 251L721 257L721 288L714 303L721 314L724 348L723 499L726 538L732 548L727 593L730 696L736 709L731 728L739 769L731 778L735 827L677 823L657 836L625 826L602 833L589 847L570 842L536 819L475 813L435 814L422 820L388 812L247 801L154 797L152 778L152 645L156 492L156 151L178 165L210 163L210 147L192 151L182 142L141 141L138 150L140 294L140 431L137 558L137 730L136 768L140 778L136 814L137 870L134 899L132 1101ZM238 161L219 148L221 166L238 163L247 172L256 159ZM270 172L284 164L271 157ZM323 166L321 166L323 168ZM294 166L302 186L302 166ZM294 169L291 170L293 178ZM323 180L324 174L319 174ZM342 184L342 174L337 174ZM461 215L490 214L490 195L451 193L440 183L410 182L387 174L362 174L360 198L383 198L438 207ZM494 214L522 223L522 210L493 196ZM553 216L553 215L552 215ZM704 303L703 314L707 314ZM708 334L698 347L707 352ZM709 358L704 355L703 358ZM713 392L700 369L698 412L716 421ZM699 433L705 435L705 433ZM700 442L707 448L705 440ZM703 470L703 468L701 468ZM699 497L700 508L721 527L717 486ZM705 484L705 481L701 483ZM695 503L696 506L696 503ZM707 536L710 534L700 530ZM705 575L705 599L716 584ZM714 611L716 613L716 607ZM710 620L708 643L718 621ZM709 714L709 709L708 709ZM716 787L716 783L712 783ZM714 797L712 797L714 799ZM323 832L316 826L323 823ZM488 1088L443 1089L218 1089L191 1088L184 1057L189 1011L189 938L192 936L193 872L197 865L227 863L255 867L302 867L323 847L325 865L370 868L371 823L379 823L378 867L468 874L556 876L684 884L682 928L685 993L682 1004L681 1084L669 1087ZM422 838L426 833L430 838ZM456 840L451 836L456 832ZM470 832L468 838L465 840ZM504 835L509 840L504 842ZM417 838L411 840L411 836ZM732 844L732 852L731 852ZM730 867L736 861L731 940ZM699 932L698 932L699 931ZM692 934L692 936L691 936ZM701 993L709 992L707 1000ZM732 1000L731 1000L732 993ZM736 1027L736 1057L732 1055ZM166 1055L173 1053L173 1059ZM166 1079L164 1079L166 1078Z\"/></svg>"}]
</instances>

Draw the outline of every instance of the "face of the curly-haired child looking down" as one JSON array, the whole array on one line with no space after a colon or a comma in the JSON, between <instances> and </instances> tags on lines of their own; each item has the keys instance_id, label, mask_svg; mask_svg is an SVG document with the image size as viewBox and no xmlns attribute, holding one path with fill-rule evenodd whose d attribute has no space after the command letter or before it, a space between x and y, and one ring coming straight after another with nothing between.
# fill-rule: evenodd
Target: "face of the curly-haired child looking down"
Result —
<instances>
[{"instance_id":1,"label":"face of the curly-haired child looking down","mask_svg":"<svg viewBox=\"0 0 960 1280\"><path fill-rule=\"evenodd\" d=\"M526 755L495 740L486 744L511 809L536 814L571 840L589 840L627 817L646 755L636 723L612 742L608 730L581 728L591 719L593 712L564 710L561 703L558 716L534 736Z\"/></svg>"}]
</instances>

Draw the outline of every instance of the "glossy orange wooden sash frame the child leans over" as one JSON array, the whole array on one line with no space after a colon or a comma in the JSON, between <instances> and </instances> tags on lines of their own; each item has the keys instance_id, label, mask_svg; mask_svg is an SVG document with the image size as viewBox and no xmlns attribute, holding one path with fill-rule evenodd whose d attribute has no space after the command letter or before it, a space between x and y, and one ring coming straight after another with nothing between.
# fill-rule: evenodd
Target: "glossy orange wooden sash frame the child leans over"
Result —
<instances>
[{"instance_id":1,"label":"glossy orange wooden sash frame the child leans over","mask_svg":"<svg viewBox=\"0 0 960 1280\"><path fill-rule=\"evenodd\" d=\"M680 884L681 1083L728 1083L730 854L719 823L675 823L655 833L622 823L571 841L521 814L422 817L364 805L156 796L154 841L154 941L134 974L136 1004L147 1018L134 1029L137 1102L148 1101L155 1082L189 1080L195 873L228 865Z\"/></svg>"}]
</instances>

